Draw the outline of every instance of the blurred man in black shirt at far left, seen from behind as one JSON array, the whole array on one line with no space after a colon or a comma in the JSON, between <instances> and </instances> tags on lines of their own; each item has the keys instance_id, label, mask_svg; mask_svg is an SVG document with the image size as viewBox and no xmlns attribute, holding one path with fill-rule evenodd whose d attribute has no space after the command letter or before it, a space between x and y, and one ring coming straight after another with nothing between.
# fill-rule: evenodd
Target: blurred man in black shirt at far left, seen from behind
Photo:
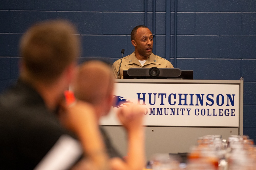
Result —
<instances>
[{"instance_id":1,"label":"blurred man in black shirt at far left, seen from behind","mask_svg":"<svg viewBox=\"0 0 256 170\"><path fill-rule=\"evenodd\" d=\"M0 97L0 169L69 169L84 164L83 153L87 165L106 168L93 108L77 101L62 107L65 115L56 113L75 74L75 34L69 22L45 21L21 38L19 80Z\"/></svg>"}]
</instances>

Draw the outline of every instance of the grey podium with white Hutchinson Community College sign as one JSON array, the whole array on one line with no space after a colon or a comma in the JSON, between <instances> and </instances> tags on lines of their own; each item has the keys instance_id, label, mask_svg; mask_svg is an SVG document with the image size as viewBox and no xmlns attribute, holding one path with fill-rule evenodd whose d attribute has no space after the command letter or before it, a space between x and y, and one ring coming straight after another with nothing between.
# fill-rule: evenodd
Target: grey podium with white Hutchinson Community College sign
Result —
<instances>
[{"instance_id":1,"label":"grey podium with white Hutchinson Community College sign","mask_svg":"<svg viewBox=\"0 0 256 170\"><path fill-rule=\"evenodd\" d=\"M114 98L118 102L113 105L110 114L101 120L101 125L110 126L105 129L114 143L125 143L123 139L118 139L122 128L115 127L121 125L115 112L131 103L142 105L145 107L144 125L148 126L148 154L156 150L188 152L188 146L194 145L203 134L219 134L223 138L229 134L242 134L243 81L122 79L116 80ZM158 130L150 132L154 128ZM149 143L161 141L163 145L150 149L153 146ZM179 145L172 147L172 143L177 142ZM125 155L123 146L122 150Z\"/></svg>"}]
</instances>

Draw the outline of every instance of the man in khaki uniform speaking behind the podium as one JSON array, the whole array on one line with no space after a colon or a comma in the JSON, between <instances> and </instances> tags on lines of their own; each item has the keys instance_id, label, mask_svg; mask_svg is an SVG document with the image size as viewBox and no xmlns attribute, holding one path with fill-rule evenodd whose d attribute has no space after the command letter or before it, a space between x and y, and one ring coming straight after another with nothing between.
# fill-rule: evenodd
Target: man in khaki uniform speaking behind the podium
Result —
<instances>
[{"instance_id":1,"label":"man in khaki uniform speaking behind the podium","mask_svg":"<svg viewBox=\"0 0 256 170\"><path fill-rule=\"evenodd\" d=\"M135 51L124 57L121 63L118 78L123 79L123 71L129 68L173 68L170 61L154 55L152 32L144 25L138 25L131 32L132 45ZM112 65L114 76L117 77L121 59L116 60Z\"/></svg>"}]
</instances>

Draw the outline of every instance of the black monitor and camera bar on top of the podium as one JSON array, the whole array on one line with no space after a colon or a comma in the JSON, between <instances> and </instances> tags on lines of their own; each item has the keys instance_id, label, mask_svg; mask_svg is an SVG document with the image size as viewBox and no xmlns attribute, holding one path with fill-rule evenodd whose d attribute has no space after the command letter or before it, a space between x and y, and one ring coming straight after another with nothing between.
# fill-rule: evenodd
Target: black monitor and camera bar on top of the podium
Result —
<instances>
[{"instance_id":1,"label":"black monitor and camera bar on top of the podium","mask_svg":"<svg viewBox=\"0 0 256 170\"><path fill-rule=\"evenodd\" d=\"M124 70L124 79L186 79L193 80L193 70L179 68L130 68Z\"/></svg>"}]
</instances>

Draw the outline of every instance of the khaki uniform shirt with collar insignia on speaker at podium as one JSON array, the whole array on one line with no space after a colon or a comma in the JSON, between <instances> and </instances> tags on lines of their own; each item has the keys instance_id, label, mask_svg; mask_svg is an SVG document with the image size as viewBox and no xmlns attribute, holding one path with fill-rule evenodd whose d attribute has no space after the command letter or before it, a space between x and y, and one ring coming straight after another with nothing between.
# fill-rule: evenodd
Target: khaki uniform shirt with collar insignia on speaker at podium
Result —
<instances>
[{"instance_id":1,"label":"khaki uniform shirt with collar insignia on speaker at podium","mask_svg":"<svg viewBox=\"0 0 256 170\"><path fill-rule=\"evenodd\" d=\"M116 78L118 74L118 69L120 66L121 59L116 60L114 64L112 65L112 70L114 73L114 76ZM170 63L170 61L159 57L157 55L154 55L153 53L148 57L147 61L142 66L140 61L135 57L134 52L131 55L128 55L126 57L123 57L120 73L118 78L123 79L123 72L124 70L128 70L129 68L151 68L151 67L157 67L157 68L173 68L173 65Z\"/></svg>"}]
</instances>

